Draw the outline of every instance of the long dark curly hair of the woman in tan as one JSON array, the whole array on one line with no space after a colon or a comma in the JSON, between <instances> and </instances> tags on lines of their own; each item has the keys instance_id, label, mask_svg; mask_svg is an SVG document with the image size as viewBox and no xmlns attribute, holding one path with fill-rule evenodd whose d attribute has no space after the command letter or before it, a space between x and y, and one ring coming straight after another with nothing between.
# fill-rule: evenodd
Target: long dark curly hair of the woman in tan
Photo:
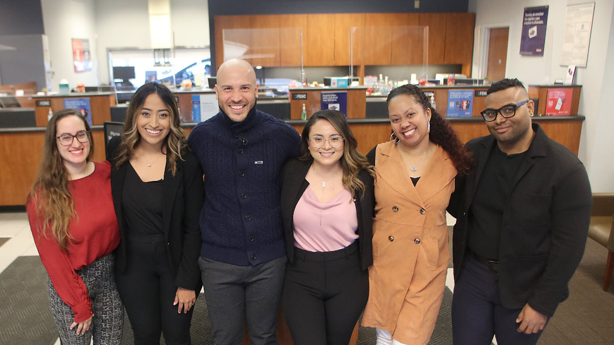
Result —
<instances>
[{"instance_id":1,"label":"long dark curly hair of the woman in tan","mask_svg":"<svg viewBox=\"0 0 614 345\"><path fill-rule=\"evenodd\" d=\"M403 85L390 91L386 99L386 106L388 106L392 98L400 95L412 96L416 103L421 104L425 112L427 109L430 109L429 140L434 144L440 145L442 149L448 152L458 174L467 174L471 168L471 153L465 148L465 145L459 139L450 122L430 105L430 99L416 85ZM394 136L394 131L392 134Z\"/></svg>"}]
</instances>

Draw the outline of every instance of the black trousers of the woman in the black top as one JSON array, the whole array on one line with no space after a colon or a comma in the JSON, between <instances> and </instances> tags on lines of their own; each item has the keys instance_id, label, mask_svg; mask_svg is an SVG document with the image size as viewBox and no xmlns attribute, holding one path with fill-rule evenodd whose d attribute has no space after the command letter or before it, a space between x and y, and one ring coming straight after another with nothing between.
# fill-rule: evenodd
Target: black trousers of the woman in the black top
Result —
<instances>
[{"instance_id":1,"label":"black trousers of the woman in the black top","mask_svg":"<svg viewBox=\"0 0 614 345\"><path fill-rule=\"evenodd\" d=\"M130 236L125 272L115 271L117 290L134 331L134 344L191 344L192 311L177 312L177 285L164 235ZM198 295L198 292L196 292Z\"/></svg>"}]
</instances>

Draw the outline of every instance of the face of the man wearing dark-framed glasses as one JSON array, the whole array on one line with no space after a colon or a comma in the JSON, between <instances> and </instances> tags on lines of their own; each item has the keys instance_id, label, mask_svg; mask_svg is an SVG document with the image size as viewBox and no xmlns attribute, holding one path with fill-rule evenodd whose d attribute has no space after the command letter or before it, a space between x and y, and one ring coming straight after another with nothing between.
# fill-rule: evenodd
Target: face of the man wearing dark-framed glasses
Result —
<instances>
[{"instance_id":1,"label":"face of the man wearing dark-framed glasses","mask_svg":"<svg viewBox=\"0 0 614 345\"><path fill-rule=\"evenodd\" d=\"M527 99L529 99L527 90L521 87L510 87L486 96L486 109L499 109L518 104ZM533 108L533 101L529 101L519 106L516 109L516 114L512 117L505 118L501 114L497 114L494 121L486 122L486 128L497 139L499 145L505 147L513 147L526 140L530 142L533 135L530 114L533 113Z\"/></svg>"}]
</instances>

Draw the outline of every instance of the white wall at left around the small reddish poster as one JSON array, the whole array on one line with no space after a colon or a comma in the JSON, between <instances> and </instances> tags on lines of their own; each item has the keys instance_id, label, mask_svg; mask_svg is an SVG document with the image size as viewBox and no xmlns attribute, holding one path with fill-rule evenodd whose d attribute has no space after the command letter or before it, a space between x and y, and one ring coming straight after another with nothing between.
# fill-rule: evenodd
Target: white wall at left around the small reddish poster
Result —
<instances>
[{"instance_id":1,"label":"white wall at left around the small reddish poster","mask_svg":"<svg viewBox=\"0 0 614 345\"><path fill-rule=\"evenodd\" d=\"M94 0L41 0L45 34L49 39L51 88L59 90L60 80L66 79L71 88L82 82L98 85ZM75 72L72 63L71 39L90 41L91 71Z\"/></svg>"}]
</instances>

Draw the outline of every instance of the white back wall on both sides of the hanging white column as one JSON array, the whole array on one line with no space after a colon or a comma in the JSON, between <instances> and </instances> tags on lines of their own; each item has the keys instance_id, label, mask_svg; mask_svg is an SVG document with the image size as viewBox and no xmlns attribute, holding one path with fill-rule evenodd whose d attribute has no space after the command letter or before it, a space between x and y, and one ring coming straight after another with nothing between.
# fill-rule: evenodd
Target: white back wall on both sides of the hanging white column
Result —
<instances>
[{"instance_id":1,"label":"white back wall on both sides of the hanging white column","mask_svg":"<svg viewBox=\"0 0 614 345\"><path fill-rule=\"evenodd\" d=\"M150 48L147 0L96 0L99 80L109 83L108 48ZM208 1L171 0L175 45L209 45ZM153 56L153 52L152 52Z\"/></svg>"}]
</instances>

